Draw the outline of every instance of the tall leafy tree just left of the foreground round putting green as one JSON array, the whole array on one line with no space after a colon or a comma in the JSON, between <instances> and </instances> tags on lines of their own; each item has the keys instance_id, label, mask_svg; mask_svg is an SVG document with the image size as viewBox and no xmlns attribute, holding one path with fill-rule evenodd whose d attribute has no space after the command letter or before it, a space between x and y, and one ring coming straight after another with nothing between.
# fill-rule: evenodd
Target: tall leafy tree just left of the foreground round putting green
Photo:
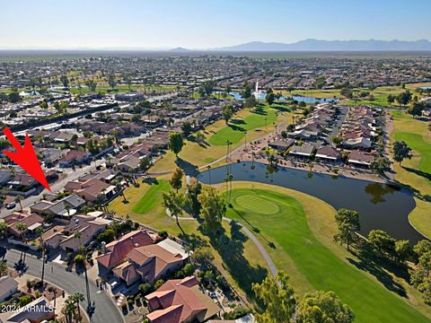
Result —
<instances>
[{"instance_id":1,"label":"tall leafy tree just left of the foreground round putting green","mask_svg":"<svg viewBox=\"0 0 431 323\"><path fill-rule=\"evenodd\" d=\"M216 188L204 187L198 196L198 201L204 228L207 231L218 231L226 214L226 205L222 196L218 194Z\"/></svg>"}]
</instances>

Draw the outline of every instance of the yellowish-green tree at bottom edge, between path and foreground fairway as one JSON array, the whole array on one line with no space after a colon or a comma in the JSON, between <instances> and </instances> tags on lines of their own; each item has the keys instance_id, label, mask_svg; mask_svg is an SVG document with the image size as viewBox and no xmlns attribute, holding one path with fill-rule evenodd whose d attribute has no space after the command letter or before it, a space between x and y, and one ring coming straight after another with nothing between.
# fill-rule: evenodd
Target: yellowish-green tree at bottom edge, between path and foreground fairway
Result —
<instances>
[{"instance_id":1,"label":"yellowish-green tree at bottom edge, between path and foreground fairway","mask_svg":"<svg viewBox=\"0 0 431 323\"><path fill-rule=\"evenodd\" d=\"M263 312L256 314L259 323L291 322L296 301L288 279L286 273L279 271L276 277L268 275L261 284L251 285L253 292L265 305Z\"/></svg>"}]
</instances>

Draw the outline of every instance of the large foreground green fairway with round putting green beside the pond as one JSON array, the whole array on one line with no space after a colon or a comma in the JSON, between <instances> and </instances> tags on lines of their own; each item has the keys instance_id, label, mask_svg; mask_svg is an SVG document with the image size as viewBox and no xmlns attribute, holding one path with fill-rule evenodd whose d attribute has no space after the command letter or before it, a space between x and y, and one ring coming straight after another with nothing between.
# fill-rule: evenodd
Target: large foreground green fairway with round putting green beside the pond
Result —
<instances>
[{"instance_id":1,"label":"large foreground green fairway with round putting green beside the pond","mask_svg":"<svg viewBox=\"0 0 431 323\"><path fill-rule=\"evenodd\" d=\"M295 198L266 189L237 188L232 191L231 202L233 209L228 209L227 216L259 228L272 239L277 252L293 260L313 288L336 292L355 311L357 322L429 322L399 295L321 244ZM267 206L271 212L262 212ZM278 259L274 260L279 266ZM351 261L356 260L352 257Z\"/></svg>"}]
</instances>

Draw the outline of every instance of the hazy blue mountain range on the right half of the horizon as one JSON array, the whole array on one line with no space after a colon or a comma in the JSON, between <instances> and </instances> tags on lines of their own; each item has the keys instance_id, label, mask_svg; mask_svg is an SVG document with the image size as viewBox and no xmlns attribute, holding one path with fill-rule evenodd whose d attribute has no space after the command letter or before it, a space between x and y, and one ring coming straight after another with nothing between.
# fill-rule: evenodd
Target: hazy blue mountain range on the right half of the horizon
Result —
<instances>
[{"instance_id":1,"label":"hazy blue mountain range on the right half of the horizon","mask_svg":"<svg viewBox=\"0 0 431 323\"><path fill-rule=\"evenodd\" d=\"M431 50L431 42L419 40L319 40L305 39L295 43L251 41L241 45L213 48L221 51L403 51Z\"/></svg>"}]
</instances>

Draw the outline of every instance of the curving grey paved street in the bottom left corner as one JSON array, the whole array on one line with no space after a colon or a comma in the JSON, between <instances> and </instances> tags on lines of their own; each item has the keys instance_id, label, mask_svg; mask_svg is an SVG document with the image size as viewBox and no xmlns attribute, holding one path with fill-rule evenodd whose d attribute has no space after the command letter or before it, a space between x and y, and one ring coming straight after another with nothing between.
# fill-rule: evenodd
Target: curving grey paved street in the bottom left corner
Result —
<instances>
[{"instance_id":1,"label":"curving grey paved street in the bottom left corner","mask_svg":"<svg viewBox=\"0 0 431 323\"><path fill-rule=\"evenodd\" d=\"M24 258L24 254L21 251L8 249L4 260L7 260L8 266L13 267L20 258L22 258L28 266L26 271L28 274L40 277L41 260L39 258L31 256L30 254L25 254ZM53 272L51 272L51 266L54 268ZM45 279L52 284L56 284L69 294L81 292L83 295L86 295L84 275L76 275L75 273L66 272L64 266L57 265L56 263L48 263L45 266ZM105 292L100 292L99 288L97 288L96 284L92 281L89 281L89 284L92 301L95 302L96 307L91 321L94 323L124 322L124 319L119 313L116 305L110 300L110 296ZM83 304L84 308L86 307L85 304Z\"/></svg>"}]
</instances>

